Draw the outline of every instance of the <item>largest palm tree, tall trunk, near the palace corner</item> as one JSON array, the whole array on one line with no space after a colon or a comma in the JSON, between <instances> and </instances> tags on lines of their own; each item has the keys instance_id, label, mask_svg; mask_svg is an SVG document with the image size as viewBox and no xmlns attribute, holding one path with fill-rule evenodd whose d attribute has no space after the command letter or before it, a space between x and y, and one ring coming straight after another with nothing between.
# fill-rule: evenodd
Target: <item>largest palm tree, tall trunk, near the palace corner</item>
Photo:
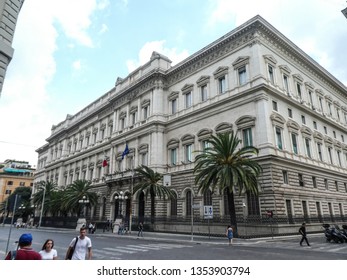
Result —
<instances>
[{"instance_id":1,"label":"largest palm tree, tall trunk, near the palace corner","mask_svg":"<svg viewBox=\"0 0 347 280\"><path fill-rule=\"evenodd\" d=\"M238 148L241 140L233 131L211 136L208 142L211 145L199 151L201 153L195 158L195 184L203 192L209 188L212 193L216 188L221 193L227 190L230 222L237 235L234 193L237 187L239 195L243 189L258 194L257 177L262 168L253 158L258 149L253 146Z\"/></svg>"}]
</instances>

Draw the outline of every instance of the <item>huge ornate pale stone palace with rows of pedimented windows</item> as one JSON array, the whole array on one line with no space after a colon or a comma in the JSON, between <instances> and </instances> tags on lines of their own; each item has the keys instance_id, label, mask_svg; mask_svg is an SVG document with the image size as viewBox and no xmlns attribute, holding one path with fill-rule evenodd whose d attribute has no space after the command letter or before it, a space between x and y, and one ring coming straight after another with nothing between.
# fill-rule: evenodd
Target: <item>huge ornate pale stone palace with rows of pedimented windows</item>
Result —
<instances>
[{"instance_id":1,"label":"huge ornate pale stone palace with rows of pedimented windows","mask_svg":"<svg viewBox=\"0 0 347 280\"><path fill-rule=\"evenodd\" d=\"M162 173L176 198L156 201L155 230L211 233L229 223L224 193L199 193L194 151L210 135L233 130L259 149L259 196L235 195L241 234L297 232L347 212L347 88L272 25L256 16L181 63L150 60L92 104L52 127L35 181L68 187L93 182L99 203L91 219L149 217L150 198L131 197L132 169ZM122 160L125 146L129 153ZM108 166L103 167L105 157ZM120 192L126 195L120 201ZM123 195L124 196L124 195ZM122 211L122 212L121 212ZM273 213L269 218L266 213ZM295 229L293 231L293 229Z\"/></svg>"}]
</instances>

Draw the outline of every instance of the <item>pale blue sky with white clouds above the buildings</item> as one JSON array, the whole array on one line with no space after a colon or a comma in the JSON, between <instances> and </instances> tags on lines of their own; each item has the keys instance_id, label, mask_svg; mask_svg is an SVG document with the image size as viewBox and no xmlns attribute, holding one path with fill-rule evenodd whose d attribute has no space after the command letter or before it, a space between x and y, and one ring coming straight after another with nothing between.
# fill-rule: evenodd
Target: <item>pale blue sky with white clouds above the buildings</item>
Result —
<instances>
[{"instance_id":1,"label":"pale blue sky with white clouds above the buildings","mask_svg":"<svg viewBox=\"0 0 347 280\"><path fill-rule=\"evenodd\" d=\"M0 97L0 162L37 165L52 125L146 63L175 65L256 15L347 86L345 0L26 0Z\"/></svg>"}]
</instances>

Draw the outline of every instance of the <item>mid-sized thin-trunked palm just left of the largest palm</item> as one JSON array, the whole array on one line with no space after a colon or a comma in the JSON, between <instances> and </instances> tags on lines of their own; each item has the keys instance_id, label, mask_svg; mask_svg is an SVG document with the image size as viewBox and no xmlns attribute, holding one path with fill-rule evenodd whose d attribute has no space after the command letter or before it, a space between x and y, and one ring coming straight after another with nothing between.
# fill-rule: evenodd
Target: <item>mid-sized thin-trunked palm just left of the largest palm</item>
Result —
<instances>
[{"instance_id":1,"label":"mid-sized thin-trunked palm just left of the largest palm","mask_svg":"<svg viewBox=\"0 0 347 280\"><path fill-rule=\"evenodd\" d=\"M167 187L163 186L160 181L163 175L154 171L146 165L141 165L135 168L135 174L140 176L140 182L136 184L133 190L133 194L136 192L144 192L146 198L150 195L151 198L151 223L154 223L155 217L155 198L172 198L174 193Z\"/></svg>"}]
</instances>

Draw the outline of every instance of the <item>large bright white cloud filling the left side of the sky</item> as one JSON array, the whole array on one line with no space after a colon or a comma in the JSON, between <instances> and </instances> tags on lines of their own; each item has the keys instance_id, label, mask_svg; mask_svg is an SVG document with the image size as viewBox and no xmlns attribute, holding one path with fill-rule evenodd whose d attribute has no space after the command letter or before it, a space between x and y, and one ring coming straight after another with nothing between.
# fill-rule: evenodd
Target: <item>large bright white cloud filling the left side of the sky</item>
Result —
<instances>
[{"instance_id":1,"label":"large bright white cloud filling the left side of the sky","mask_svg":"<svg viewBox=\"0 0 347 280\"><path fill-rule=\"evenodd\" d=\"M104 5L108 3L102 2ZM24 3L13 41L14 57L0 98L3 116L0 161L9 158L36 165L35 149L45 144L52 124L61 121L56 119L59 108L51 104L47 91L56 73L57 28L62 27L71 39L71 45L93 46L87 32L96 8L94 0L31 0ZM76 60L73 67L80 70L81 62Z\"/></svg>"}]
</instances>

